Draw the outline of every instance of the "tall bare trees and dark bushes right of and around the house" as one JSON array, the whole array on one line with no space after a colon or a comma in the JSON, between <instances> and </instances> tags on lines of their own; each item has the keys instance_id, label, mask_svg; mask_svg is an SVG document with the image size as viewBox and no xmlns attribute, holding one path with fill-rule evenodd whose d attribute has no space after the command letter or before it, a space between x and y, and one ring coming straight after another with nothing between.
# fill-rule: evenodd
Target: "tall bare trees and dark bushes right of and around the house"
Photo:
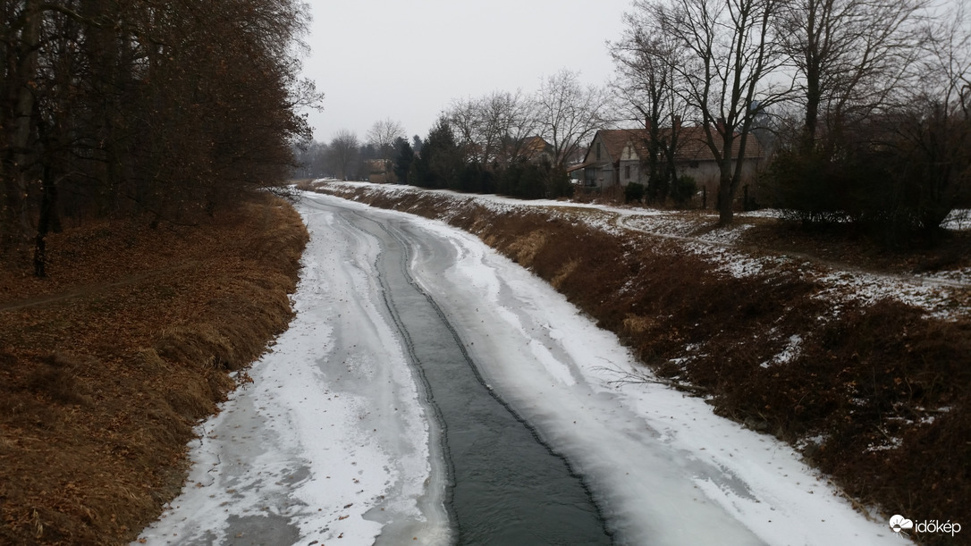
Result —
<instances>
[{"instance_id":1,"label":"tall bare trees and dark bushes right of and around the house","mask_svg":"<svg viewBox=\"0 0 971 546\"><path fill-rule=\"evenodd\" d=\"M703 128L721 223L759 137L773 204L892 242L935 232L971 199L967 12L931 0L635 0L610 44L615 89L648 128ZM650 133L657 163L670 161L677 131Z\"/></svg>"}]
</instances>

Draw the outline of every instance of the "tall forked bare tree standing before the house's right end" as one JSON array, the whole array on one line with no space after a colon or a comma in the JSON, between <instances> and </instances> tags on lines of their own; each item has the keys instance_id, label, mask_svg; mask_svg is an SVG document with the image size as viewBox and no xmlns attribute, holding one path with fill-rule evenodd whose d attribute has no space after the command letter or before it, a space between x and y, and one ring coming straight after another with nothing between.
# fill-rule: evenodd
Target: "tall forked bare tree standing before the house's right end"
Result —
<instances>
[{"instance_id":1,"label":"tall forked bare tree standing before the house's right end","mask_svg":"<svg viewBox=\"0 0 971 546\"><path fill-rule=\"evenodd\" d=\"M730 224L747 145L759 109L782 100L787 88L767 83L782 56L773 36L782 0L635 0L652 13L657 32L684 53L675 66L679 92L702 123L705 144L719 164L720 224Z\"/></svg>"}]
</instances>

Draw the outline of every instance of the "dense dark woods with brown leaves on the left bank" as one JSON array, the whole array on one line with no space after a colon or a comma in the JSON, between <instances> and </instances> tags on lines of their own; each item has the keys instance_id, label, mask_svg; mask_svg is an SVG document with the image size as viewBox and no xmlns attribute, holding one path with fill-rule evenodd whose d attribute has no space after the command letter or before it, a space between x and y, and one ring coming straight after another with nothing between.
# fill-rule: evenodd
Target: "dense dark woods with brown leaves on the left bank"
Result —
<instances>
[{"instance_id":1,"label":"dense dark woods with brown leaves on the left bank","mask_svg":"<svg viewBox=\"0 0 971 546\"><path fill-rule=\"evenodd\" d=\"M64 219L188 221L279 184L319 100L295 0L0 1L0 256Z\"/></svg>"}]
</instances>

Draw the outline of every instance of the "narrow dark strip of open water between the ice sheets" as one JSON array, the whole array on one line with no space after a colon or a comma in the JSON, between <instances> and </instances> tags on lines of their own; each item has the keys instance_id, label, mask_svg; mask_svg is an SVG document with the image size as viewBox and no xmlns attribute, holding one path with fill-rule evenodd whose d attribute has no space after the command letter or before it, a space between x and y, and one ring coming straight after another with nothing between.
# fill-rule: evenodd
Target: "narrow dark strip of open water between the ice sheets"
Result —
<instances>
[{"instance_id":1,"label":"narrow dark strip of open water between the ice sheets","mask_svg":"<svg viewBox=\"0 0 971 546\"><path fill-rule=\"evenodd\" d=\"M433 408L458 544L610 544L581 477L485 383L445 313L415 282L406 239L421 241L420 234L350 210L338 215L381 241L386 310ZM435 242L422 251L448 252Z\"/></svg>"}]
</instances>

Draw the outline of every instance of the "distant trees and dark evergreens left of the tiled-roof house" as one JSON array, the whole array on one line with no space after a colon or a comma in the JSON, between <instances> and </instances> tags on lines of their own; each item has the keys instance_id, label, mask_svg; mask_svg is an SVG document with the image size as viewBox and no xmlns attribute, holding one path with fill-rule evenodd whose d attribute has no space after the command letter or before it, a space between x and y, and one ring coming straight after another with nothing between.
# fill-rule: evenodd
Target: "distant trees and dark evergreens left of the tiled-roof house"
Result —
<instances>
[{"instance_id":1,"label":"distant trees and dark evergreens left of the tiled-roof house","mask_svg":"<svg viewBox=\"0 0 971 546\"><path fill-rule=\"evenodd\" d=\"M527 199L569 195L566 169L606 122L609 104L604 87L563 69L534 93L497 90L452 101L423 140L407 140L400 124L385 120L363 143L343 130L329 144L304 145L297 174L364 179L385 162L385 179L421 187Z\"/></svg>"}]
</instances>

